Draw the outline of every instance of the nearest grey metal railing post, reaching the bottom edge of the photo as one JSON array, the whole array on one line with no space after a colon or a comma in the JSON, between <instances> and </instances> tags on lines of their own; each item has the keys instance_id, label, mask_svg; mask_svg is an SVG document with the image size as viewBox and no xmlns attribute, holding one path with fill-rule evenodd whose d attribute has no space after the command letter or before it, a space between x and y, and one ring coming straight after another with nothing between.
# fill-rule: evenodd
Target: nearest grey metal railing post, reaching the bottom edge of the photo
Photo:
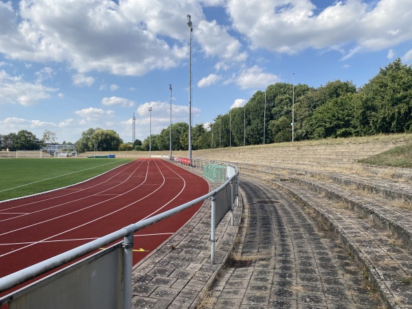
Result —
<instances>
[{"instance_id":1,"label":"nearest grey metal railing post, reaching the bottom edge of the photo","mask_svg":"<svg viewBox=\"0 0 412 309\"><path fill-rule=\"evenodd\" d=\"M132 308L132 271L133 271L133 231L123 240L123 309Z\"/></svg>"}]
</instances>

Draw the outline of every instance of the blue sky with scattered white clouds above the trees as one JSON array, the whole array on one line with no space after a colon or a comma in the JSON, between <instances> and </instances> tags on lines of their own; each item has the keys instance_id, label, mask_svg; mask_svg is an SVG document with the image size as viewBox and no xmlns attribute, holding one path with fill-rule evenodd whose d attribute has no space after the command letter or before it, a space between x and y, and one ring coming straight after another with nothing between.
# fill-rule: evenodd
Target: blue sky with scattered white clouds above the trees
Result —
<instances>
[{"instance_id":1,"label":"blue sky with scattered white clouds above the trees","mask_svg":"<svg viewBox=\"0 0 412 309\"><path fill-rule=\"evenodd\" d=\"M131 142L134 113L143 141L168 128L170 104L189 122L187 14L193 125L276 82L362 87L412 63L411 0L0 0L0 134Z\"/></svg>"}]
</instances>

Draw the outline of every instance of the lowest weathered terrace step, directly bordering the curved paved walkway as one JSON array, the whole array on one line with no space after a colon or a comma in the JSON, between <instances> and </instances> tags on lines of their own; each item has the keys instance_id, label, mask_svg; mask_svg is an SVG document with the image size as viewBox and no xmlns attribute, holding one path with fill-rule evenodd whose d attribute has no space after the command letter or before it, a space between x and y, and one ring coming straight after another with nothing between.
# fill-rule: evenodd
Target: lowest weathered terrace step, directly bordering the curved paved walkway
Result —
<instances>
[{"instance_id":1,"label":"lowest weathered terrace step, directly bordering the curved paved walkway","mask_svg":"<svg viewBox=\"0 0 412 309\"><path fill-rule=\"evenodd\" d=\"M402 240L344 203L336 203L304 183L272 179L328 223L380 291L388 308L412 308L412 251Z\"/></svg>"}]
</instances>

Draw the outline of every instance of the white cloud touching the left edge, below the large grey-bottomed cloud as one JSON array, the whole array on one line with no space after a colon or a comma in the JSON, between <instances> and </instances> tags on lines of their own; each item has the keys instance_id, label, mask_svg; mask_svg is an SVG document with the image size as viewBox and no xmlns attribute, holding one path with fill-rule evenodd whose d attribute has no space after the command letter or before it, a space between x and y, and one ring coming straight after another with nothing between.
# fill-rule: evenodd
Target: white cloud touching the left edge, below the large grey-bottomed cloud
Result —
<instances>
[{"instance_id":1,"label":"white cloud touching the left edge, below the large grey-bottomed cloud","mask_svg":"<svg viewBox=\"0 0 412 309\"><path fill-rule=\"evenodd\" d=\"M43 86L40 82L25 82L21 76L9 76L0 71L0 104L21 104L30 106L39 100L50 98L57 89Z\"/></svg>"}]
</instances>

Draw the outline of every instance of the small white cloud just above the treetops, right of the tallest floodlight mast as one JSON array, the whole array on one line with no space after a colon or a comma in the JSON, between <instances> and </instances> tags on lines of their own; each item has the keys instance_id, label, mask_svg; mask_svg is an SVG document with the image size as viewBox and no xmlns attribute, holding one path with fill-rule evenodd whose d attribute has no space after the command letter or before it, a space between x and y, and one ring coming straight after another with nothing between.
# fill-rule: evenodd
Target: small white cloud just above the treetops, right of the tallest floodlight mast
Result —
<instances>
[{"instance_id":1,"label":"small white cloud just above the treetops, right of the tallest floodlight mast","mask_svg":"<svg viewBox=\"0 0 412 309\"><path fill-rule=\"evenodd\" d=\"M260 67L255 65L249 69L245 69L236 79L236 84L241 89L259 89L267 87L268 84L280 82L281 79L274 74L264 73Z\"/></svg>"}]
</instances>

